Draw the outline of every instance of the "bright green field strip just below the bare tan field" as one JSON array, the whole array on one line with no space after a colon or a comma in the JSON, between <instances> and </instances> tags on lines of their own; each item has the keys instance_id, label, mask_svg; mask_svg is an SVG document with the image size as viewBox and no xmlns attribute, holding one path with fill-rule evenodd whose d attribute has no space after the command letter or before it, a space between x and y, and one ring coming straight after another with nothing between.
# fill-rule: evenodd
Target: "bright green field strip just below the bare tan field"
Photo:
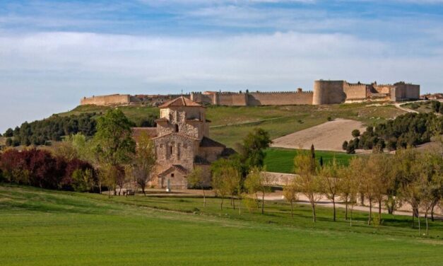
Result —
<instances>
[{"instance_id":1,"label":"bright green field strip just below the bare tan field","mask_svg":"<svg viewBox=\"0 0 443 266\"><path fill-rule=\"evenodd\" d=\"M300 151L282 148L267 149L264 161L266 170L276 173L294 173L294 157L297 152ZM318 160L322 157L325 164L331 163L333 158L336 158L337 163L347 166L350 158L355 155L337 151L315 151L315 156Z\"/></svg>"}]
</instances>

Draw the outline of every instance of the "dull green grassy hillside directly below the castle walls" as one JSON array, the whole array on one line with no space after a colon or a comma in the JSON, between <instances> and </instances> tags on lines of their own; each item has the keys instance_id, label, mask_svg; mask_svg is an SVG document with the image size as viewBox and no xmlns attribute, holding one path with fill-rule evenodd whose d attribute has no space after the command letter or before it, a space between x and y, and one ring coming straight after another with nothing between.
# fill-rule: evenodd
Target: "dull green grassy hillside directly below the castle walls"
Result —
<instances>
[{"instance_id":1,"label":"dull green grassy hillside directly below the castle walls","mask_svg":"<svg viewBox=\"0 0 443 266\"><path fill-rule=\"evenodd\" d=\"M111 107L83 105L59 115L78 115L83 112L97 112L98 115ZM119 107L134 122L151 114L158 115L158 108L141 105ZM207 118L211 120L211 138L235 148L255 127L269 132L272 139L293 132L320 125L331 118L359 120L366 125L374 125L404 112L392 105L372 106L368 103L342 105L283 105L283 106L249 106L226 107L209 106ZM240 124L240 125L239 125Z\"/></svg>"}]
</instances>

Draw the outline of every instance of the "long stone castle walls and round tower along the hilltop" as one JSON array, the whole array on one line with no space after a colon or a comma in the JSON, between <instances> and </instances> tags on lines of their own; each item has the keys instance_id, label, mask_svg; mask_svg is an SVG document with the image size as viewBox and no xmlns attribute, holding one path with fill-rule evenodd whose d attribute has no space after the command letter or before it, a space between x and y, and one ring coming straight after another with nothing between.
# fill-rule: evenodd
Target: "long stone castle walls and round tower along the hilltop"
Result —
<instances>
[{"instance_id":1,"label":"long stone castle walls and round tower along the hilltop","mask_svg":"<svg viewBox=\"0 0 443 266\"><path fill-rule=\"evenodd\" d=\"M158 106L176 96L93 96L83 98L81 105L129 105L144 103ZM335 103L353 103L363 101L402 101L420 99L420 85L405 83L394 84L348 83L347 81L314 81L313 91L287 92L217 92L190 93L184 97L197 103L228 106L258 105L324 105Z\"/></svg>"}]
</instances>

